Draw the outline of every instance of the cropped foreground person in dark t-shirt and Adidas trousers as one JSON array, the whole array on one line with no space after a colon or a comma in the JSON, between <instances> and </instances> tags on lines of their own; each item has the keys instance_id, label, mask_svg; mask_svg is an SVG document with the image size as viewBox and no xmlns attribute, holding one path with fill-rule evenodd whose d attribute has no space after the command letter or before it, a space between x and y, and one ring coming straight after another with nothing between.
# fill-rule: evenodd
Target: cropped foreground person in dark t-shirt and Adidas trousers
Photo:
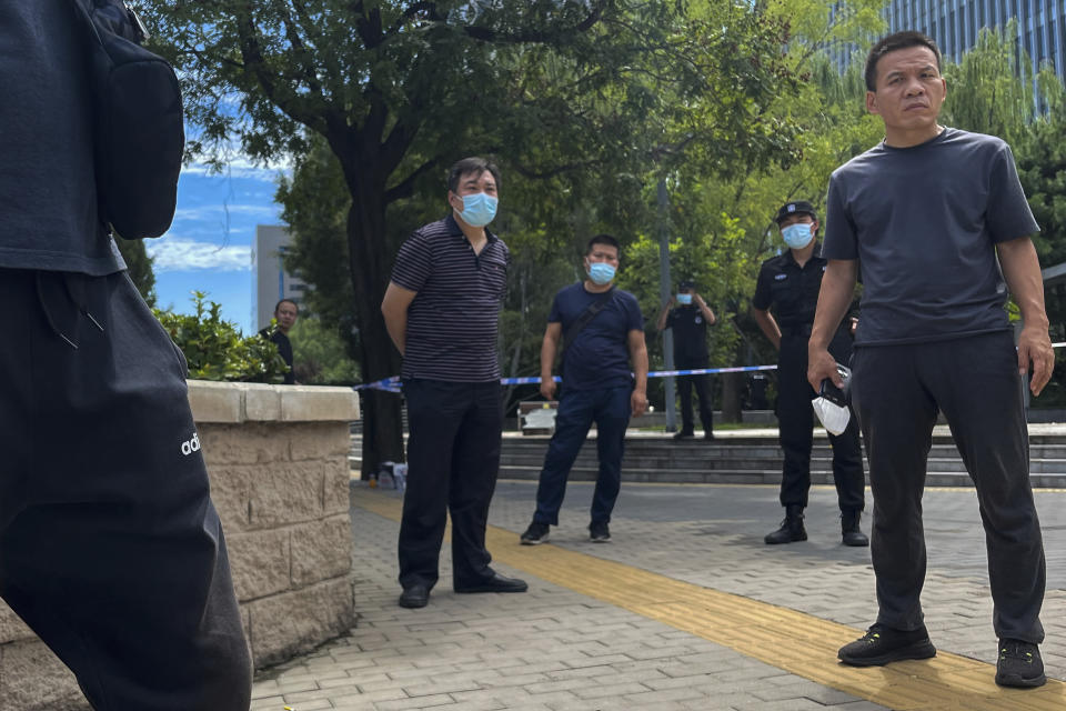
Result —
<instances>
[{"instance_id":1,"label":"cropped foreground person in dark t-shirt and Adidas trousers","mask_svg":"<svg viewBox=\"0 0 1066 711\"><path fill-rule=\"evenodd\" d=\"M133 32L123 3L79 3ZM0 2L0 595L93 709L244 711L247 618L184 358L98 209L89 31L71 2ZM0 705L69 708L20 694L19 655Z\"/></svg>"}]
</instances>

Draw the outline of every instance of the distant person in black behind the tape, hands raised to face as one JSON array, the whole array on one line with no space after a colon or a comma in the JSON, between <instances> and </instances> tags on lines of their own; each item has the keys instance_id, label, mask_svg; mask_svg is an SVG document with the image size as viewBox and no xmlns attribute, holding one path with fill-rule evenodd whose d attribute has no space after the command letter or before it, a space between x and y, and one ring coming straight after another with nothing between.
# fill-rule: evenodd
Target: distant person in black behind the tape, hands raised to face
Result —
<instances>
[{"instance_id":1,"label":"distant person in black behind the tape, hands raised to face","mask_svg":"<svg viewBox=\"0 0 1066 711\"><path fill-rule=\"evenodd\" d=\"M677 296L671 297L658 314L660 331L674 331L674 367L677 370L701 370L708 363L707 327L714 326L714 311L698 293L691 280L677 284ZM700 422L703 424L703 439L714 439L714 414L712 412L711 388L706 375L678 375L677 392L681 395L681 431L675 440L692 438L695 433L692 423L692 389L695 387L700 402Z\"/></svg>"}]
</instances>

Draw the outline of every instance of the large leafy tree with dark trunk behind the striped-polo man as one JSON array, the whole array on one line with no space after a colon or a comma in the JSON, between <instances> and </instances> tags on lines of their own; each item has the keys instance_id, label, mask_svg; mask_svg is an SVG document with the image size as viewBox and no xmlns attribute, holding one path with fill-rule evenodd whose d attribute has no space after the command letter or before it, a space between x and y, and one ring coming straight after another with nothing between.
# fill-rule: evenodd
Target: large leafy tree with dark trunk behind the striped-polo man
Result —
<instances>
[{"instance_id":1,"label":"large leafy tree with dark trunk behind the striped-polo man","mask_svg":"<svg viewBox=\"0 0 1066 711\"><path fill-rule=\"evenodd\" d=\"M693 8L676 0L144 3L155 37L167 38L155 48L178 67L200 130L192 152L222 161L238 139L245 154L270 160L301 154L321 136L334 156L351 198L346 258L368 380L399 368L379 312L393 256L390 209L428 181L440 194L453 160L499 154L509 176L552 186L557 209L593 190L609 203L632 193L656 147L663 160L681 160L690 147L722 170L790 150L787 123L762 110L794 81L778 61L783 26L760 3ZM650 130L664 117L672 131ZM540 224L541 204L529 224ZM371 471L401 455L400 410L379 392L365 405Z\"/></svg>"}]
</instances>

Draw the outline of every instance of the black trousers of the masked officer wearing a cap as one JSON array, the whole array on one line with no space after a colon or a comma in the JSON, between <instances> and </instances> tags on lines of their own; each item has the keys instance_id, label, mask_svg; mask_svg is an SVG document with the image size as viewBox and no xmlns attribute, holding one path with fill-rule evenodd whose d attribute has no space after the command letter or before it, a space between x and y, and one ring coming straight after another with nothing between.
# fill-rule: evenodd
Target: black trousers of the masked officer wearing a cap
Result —
<instances>
[{"instance_id":1,"label":"black trousers of the masked officer wearing a cap","mask_svg":"<svg viewBox=\"0 0 1066 711\"><path fill-rule=\"evenodd\" d=\"M807 382L808 333L782 334L777 363L777 424L781 449L784 452L781 478L781 505L807 505L811 490L811 448L813 444L814 409L811 400L816 394ZM851 356L851 337L838 331L829 344L829 352L839 363ZM862 511L865 505L866 479L863 473L863 451L858 441L858 424L854 413L847 429L829 434L833 447L833 482L841 511Z\"/></svg>"}]
</instances>

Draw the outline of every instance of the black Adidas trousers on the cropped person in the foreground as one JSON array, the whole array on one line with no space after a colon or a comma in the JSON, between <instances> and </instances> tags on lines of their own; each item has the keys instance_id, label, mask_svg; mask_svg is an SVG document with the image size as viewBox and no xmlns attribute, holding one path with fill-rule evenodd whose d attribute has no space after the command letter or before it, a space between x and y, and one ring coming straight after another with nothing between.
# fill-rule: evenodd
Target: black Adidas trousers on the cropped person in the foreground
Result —
<instances>
[{"instance_id":1,"label":"black Adidas trousers on the cropped person in the foreground","mask_svg":"<svg viewBox=\"0 0 1066 711\"><path fill-rule=\"evenodd\" d=\"M0 269L0 594L94 709L248 709L180 352L124 272Z\"/></svg>"}]
</instances>

